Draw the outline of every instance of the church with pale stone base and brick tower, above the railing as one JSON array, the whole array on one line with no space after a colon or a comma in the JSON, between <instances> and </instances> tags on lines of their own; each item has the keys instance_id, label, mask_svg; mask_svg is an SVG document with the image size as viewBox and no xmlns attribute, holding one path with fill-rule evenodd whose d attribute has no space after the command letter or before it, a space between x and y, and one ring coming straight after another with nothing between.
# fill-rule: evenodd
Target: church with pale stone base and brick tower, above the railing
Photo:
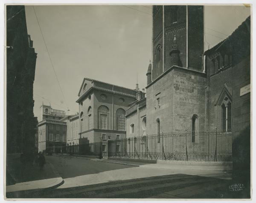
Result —
<instances>
[{"instance_id":1,"label":"church with pale stone base and brick tower, above the railing","mask_svg":"<svg viewBox=\"0 0 256 203\"><path fill-rule=\"evenodd\" d=\"M250 17L204 52L204 6L153 6L152 59L146 98L126 111L127 137L232 132L239 115L250 125L250 115L241 112L250 112L248 98L244 106L233 100L241 88L250 86ZM237 96L241 102L250 94Z\"/></svg>"}]
</instances>

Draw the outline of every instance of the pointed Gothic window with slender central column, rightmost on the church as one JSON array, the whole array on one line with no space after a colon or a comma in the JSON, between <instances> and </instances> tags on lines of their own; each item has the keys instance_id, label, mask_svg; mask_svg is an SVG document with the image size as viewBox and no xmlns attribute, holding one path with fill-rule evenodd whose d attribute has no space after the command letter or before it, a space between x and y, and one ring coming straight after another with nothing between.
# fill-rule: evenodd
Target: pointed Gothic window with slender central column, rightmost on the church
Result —
<instances>
[{"instance_id":1,"label":"pointed Gothic window with slender central column, rightmost on the church","mask_svg":"<svg viewBox=\"0 0 256 203\"><path fill-rule=\"evenodd\" d=\"M231 102L221 105L222 109L222 129L224 132L231 132Z\"/></svg>"}]
</instances>

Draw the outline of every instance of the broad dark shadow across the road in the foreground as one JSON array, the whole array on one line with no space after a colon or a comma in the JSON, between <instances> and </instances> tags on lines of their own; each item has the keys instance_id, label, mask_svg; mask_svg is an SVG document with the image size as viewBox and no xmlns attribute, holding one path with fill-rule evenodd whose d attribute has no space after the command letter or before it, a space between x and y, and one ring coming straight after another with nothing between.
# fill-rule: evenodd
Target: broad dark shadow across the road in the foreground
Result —
<instances>
[{"instance_id":1,"label":"broad dark shadow across the road in the foreground","mask_svg":"<svg viewBox=\"0 0 256 203\"><path fill-rule=\"evenodd\" d=\"M172 174L118 180L88 186L35 192L22 198L127 198L195 199L246 198L230 191L230 180L198 175Z\"/></svg>"}]
</instances>

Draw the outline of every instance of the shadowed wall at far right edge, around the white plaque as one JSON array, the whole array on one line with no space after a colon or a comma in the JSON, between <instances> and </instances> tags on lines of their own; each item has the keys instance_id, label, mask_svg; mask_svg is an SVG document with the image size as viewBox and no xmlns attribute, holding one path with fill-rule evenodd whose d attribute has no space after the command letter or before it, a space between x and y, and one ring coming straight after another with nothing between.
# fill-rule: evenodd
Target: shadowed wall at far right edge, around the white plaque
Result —
<instances>
[{"instance_id":1,"label":"shadowed wall at far right edge, around the white plaque","mask_svg":"<svg viewBox=\"0 0 256 203\"><path fill-rule=\"evenodd\" d=\"M240 89L250 84L250 55L232 67L232 154L233 180L244 184L250 197L250 92L240 96Z\"/></svg>"}]
</instances>

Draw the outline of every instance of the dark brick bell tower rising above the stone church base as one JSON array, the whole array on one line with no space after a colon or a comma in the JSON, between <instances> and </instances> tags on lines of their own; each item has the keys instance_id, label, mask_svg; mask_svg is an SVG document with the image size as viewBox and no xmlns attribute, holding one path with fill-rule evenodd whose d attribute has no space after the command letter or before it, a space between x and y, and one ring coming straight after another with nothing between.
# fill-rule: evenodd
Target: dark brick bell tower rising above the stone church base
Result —
<instances>
[{"instance_id":1,"label":"dark brick bell tower rising above the stone church base","mask_svg":"<svg viewBox=\"0 0 256 203\"><path fill-rule=\"evenodd\" d=\"M153 80L176 64L177 52L179 66L203 71L204 6L153 6L152 35Z\"/></svg>"}]
</instances>

